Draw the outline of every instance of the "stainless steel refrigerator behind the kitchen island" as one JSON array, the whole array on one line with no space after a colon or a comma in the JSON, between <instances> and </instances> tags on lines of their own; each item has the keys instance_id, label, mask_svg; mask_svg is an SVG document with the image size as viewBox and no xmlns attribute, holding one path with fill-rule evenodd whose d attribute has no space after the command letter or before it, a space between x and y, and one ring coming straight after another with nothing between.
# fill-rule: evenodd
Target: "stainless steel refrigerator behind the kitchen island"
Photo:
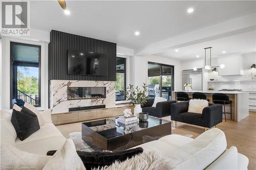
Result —
<instances>
[{"instance_id":1,"label":"stainless steel refrigerator behind the kitchen island","mask_svg":"<svg viewBox=\"0 0 256 170\"><path fill-rule=\"evenodd\" d=\"M185 90L183 86L185 83L191 84L192 90L202 90L203 89L203 70L198 69L194 71L193 69L182 70L182 90Z\"/></svg>"}]
</instances>

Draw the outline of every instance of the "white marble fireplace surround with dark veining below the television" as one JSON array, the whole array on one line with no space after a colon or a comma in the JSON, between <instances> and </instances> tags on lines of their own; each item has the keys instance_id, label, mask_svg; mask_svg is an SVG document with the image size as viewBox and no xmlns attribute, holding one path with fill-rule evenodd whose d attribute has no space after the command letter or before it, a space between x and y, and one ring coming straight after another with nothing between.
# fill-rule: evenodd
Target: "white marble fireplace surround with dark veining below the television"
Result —
<instances>
[{"instance_id":1,"label":"white marble fireplace surround with dark veining below the television","mask_svg":"<svg viewBox=\"0 0 256 170\"><path fill-rule=\"evenodd\" d=\"M106 87L106 98L68 100L68 87ZM69 108L105 105L106 108L116 106L115 82L113 81L81 81L51 80L50 108L52 113L67 113Z\"/></svg>"}]
</instances>

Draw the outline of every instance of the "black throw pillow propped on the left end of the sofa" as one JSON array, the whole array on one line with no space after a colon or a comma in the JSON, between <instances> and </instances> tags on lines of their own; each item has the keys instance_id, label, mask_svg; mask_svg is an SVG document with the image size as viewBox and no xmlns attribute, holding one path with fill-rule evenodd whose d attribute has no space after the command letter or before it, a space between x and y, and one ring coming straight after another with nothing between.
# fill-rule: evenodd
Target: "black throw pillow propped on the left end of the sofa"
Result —
<instances>
[{"instance_id":1,"label":"black throw pillow propped on the left end of the sofa","mask_svg":"<svg viewBox=\"0 0 256 170\"><path fill-rule=\"evenodd\" d=\"M13 109L11 123L20 140L26 139L40 129L37 115L26 107L20 111Z\"/></svg>"}]
</instances>

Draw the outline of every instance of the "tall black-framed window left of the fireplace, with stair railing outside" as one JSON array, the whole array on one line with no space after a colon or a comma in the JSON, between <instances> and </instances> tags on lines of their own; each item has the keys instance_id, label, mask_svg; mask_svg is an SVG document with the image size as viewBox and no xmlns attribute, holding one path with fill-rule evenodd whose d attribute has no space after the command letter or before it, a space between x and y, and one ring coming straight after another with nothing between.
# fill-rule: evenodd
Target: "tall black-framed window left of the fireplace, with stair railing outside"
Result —
<instances>
[{"instance_id":1,"label":"tall black-framed window left of the fireplace, with stair railing outside","mask_svg":"<svg viewBox=\"0 0 256 170\"><path fill-rule=\"evenodd\" d=\"M24 102L40 107L40 46L11 42L11 108Z\"/></svg>"}]
</instances>

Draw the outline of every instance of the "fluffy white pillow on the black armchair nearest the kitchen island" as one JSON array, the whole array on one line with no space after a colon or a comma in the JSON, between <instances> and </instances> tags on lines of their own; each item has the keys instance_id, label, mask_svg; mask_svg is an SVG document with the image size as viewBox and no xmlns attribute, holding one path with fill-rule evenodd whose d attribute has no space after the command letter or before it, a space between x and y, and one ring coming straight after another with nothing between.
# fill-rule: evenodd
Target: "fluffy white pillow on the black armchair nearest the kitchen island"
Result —
<instances>
[{"instance_id":1,"label":"fluffy white pillow on the black armchair nearest the kitchen island","mask_svg":"<svg viewBox=\"0 0 256 170\"><path fill-rule=\"evenodd\" d=\"M207 100L191 99L189 100L188 112L202 114L203 109L207 106L208 106Z\"/></svg>"}]
</instances>

